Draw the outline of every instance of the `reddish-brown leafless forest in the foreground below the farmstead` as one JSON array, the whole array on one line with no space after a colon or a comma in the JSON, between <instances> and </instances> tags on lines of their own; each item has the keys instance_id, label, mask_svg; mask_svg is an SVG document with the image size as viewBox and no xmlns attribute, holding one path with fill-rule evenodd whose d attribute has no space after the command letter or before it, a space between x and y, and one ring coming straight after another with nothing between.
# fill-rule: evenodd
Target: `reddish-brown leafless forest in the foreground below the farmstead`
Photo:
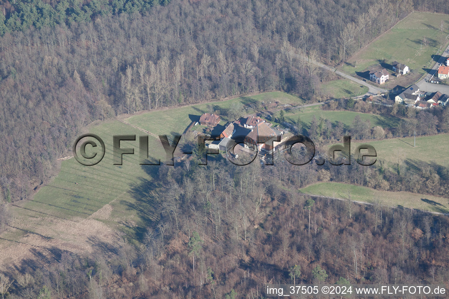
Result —
<instances>
[{"instance_id":1,"label":"reddish-brown leafless forest in the foreground below the farmstead","mask_svg":"<svg viewBox=\"0 0 449 299\"><path fill-rule=\"evenodd\" d=\"M9 298L262 299L268 282L449 282L447 217L289 191L326 181L323 170L327 179L369 183L365 178L375 178L377 167L365 176L356 165L316 172L315 164L192 162L154 171L144 166L154 179L132 188L137 202L129 208L140 211L146 225L123 238L138 243L106 246L92 238L94 254L53 249L46 260L23 261L0 277L15 280Z\"/></svg>"}]
</instances>

